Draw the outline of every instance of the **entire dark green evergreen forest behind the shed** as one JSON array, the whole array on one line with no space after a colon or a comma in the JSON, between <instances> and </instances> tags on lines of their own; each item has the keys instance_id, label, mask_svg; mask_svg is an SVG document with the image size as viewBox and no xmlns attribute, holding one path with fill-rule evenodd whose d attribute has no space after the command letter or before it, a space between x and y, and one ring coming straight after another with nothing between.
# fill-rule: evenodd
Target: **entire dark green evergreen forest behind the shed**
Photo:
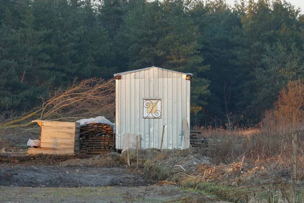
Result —
<instances>
[{"instance_id":1,"label":"entire dark green evergreen forest behind the shed","mask_svg":"<svg viewBox=\"0 0 304 203\"><path fill-rule=\"evenodd\" d=\"M304 75L304 15L281 0L0 1L0 112L153 65L194 74L192 125L258 123Z\"/></svg>"}]
</instances>

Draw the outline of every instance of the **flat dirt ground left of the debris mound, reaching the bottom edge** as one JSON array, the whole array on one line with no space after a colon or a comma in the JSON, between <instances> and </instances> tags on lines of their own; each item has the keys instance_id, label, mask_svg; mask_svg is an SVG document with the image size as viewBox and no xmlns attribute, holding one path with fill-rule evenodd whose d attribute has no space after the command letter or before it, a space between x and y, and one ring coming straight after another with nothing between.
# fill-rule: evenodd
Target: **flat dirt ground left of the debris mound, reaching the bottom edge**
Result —
<instances>
[{"instance_id":1,"label":"flat dirt ground left of the debris mound, reaching the bottom edge","mask_svg":"<svg viewBox=\"0 0 304 203\"><path fill-rule=\"evenodd\" d=\"M0 202L163 202L184 195L107 155L0 154ZM112 167L109 167L112 166Z\"/></svg>"}]
</instances>

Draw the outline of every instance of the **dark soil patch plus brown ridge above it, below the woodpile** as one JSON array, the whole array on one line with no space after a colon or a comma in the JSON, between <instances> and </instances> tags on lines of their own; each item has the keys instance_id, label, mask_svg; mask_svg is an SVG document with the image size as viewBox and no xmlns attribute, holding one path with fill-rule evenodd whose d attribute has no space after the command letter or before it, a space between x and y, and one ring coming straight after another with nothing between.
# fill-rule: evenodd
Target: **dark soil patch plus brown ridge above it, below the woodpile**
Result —
<instances>
[{"instance_id":1,"label":"dark soil patch plus brown ridge above it, below the woodpile","mask_svg":"<svg viewBox=\"0 0 304 203\"><path fill-rule=\"evenodd\" d=\"M143 173L124 167L118 157L117 153L97 156L3 154L0 155L3 161L0 186L132 187L155 183Z\"/></svg>"}]
</instances>

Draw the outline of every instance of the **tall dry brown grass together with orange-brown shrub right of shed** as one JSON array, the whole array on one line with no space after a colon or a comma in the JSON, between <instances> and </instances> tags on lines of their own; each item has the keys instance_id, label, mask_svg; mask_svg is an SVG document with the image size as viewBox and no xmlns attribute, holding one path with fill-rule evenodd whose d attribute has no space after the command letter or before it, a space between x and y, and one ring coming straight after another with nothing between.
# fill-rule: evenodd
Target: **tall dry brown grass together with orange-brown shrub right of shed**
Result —
<instances>
[{"instance_id":1,"label":"tall dry brown grass together with orange-brown shrub right of shed","mask_svg":"<svg viewBox=\"0 0 304 203\"><path fill-rule=\"evenodd\" d=\"M267 111L261 120L261 129L205 130L212 140L209 156L215 163L236 161L242 155L255 163L280 158L284 164L291 160L292 133L298 134L298 163L304 166L304 83L290 81L280 92L273 111Z\"/></svg>"}]
</instances>

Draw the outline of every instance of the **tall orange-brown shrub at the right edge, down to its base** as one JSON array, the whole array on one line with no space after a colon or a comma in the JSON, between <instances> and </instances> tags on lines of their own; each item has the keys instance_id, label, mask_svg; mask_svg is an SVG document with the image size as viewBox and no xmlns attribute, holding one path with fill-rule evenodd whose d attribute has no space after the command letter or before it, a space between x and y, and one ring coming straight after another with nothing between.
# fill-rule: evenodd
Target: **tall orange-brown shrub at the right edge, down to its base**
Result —
<instances>
[{"instance_id":1,"label":"tall orange-brown shrub at the right edge, down to its base","mask_svg":"<svg viewBox=\"0 0 304 203\"><path fill-rule=\"evenodd\" d=\"M304 83L301 80L290 81L281 90L274 111L265 112L261 132L249 138L246 148L250 158L263 160L279 156L288 164L291 158L292 132L298 134L299 150L304 146L301 127L303 119ZM304 153L300 155L304 156Z\"/></svg>"}]
</instances>

